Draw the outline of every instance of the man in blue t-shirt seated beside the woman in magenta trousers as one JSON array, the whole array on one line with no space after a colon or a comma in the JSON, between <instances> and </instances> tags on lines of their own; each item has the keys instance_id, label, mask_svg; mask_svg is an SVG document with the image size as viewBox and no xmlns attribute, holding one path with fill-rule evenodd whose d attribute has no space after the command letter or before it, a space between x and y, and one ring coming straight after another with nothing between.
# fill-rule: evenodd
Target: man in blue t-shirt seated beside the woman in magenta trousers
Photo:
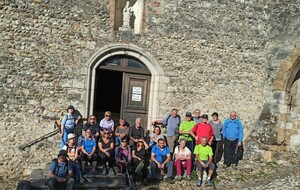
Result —
<instances>
[{"instance_id":1,"label":"man in blue t-shirt seated beside the woman in magenta trousers","mask_svg":"<svg viewBox=\"0 0 300 190\"><path fill-rule=\"evenodd\" d=\"M162 175L167 168L167 180L169 183L173 183L173 161L171 160L170 148L166 146L164 138L158 139L158 144L152 147L150 168L152 178L156 178L157 168L161 170Z\"/></svg>"}]
</instances>

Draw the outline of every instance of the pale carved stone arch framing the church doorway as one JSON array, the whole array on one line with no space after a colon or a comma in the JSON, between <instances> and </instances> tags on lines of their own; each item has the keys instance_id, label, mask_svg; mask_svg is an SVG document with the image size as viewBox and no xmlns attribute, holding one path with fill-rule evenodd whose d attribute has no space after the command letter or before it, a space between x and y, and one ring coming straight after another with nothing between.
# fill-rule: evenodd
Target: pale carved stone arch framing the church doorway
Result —
<instances>
[{"instance_id":1,"label":"pale carved stone arch framing the church doorway","mask_svg":"<svg viewBox=\"0 0 300 190\"><path fill-rule=\"evenodd\" d=\"M159 103L165 97L165 91L169 78L166 77L164 70L157 63L151 53L143 50L134 44L110 44L102 47L87 61L87 99L85 112L89 115L93 112L94 105L94 87L96 68L105 59L116 56L127 55L143 62L151 72L148 123L159 117Z\"/></svg>"}]
</instances>

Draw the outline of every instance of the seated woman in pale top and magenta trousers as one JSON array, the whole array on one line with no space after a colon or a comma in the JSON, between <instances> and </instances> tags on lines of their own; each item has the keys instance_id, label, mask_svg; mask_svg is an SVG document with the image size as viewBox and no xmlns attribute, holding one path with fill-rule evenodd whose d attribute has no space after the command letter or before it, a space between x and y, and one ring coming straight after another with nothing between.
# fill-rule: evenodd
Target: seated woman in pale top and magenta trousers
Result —
<instances>
[{"instance_id":1,"label":"seated woman in pale top and magenta trousers","mask_svg":"<svg viewBox=\"0 0 300 190\"><path fill-rule=\"evenodd\" d=\"M186 146L186 138L179 139L179 145L175 148L174 157L175 157L175 167L176 167L176 176L175 179L181 180L182 178L182 168L186 169L186 178L191 180L192 172L192 153L190 149Z\"/></svg>"}]
</instances>

